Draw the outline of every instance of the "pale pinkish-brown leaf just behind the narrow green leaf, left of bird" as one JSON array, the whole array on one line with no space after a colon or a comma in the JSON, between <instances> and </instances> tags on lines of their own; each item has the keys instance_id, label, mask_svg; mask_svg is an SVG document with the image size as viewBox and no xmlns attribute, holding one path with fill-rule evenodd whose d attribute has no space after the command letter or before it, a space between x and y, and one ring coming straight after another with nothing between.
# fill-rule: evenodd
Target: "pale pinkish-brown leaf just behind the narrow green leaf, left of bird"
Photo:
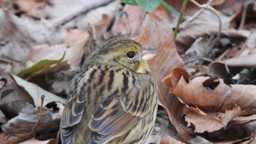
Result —
<instances>
[{"instance_id":1,"label":"pale pinkish-brown leaf just behind the narrow green leaf, left of bird","mask_svg":"<svg viewBox=\"0 0 256 144\"><path fill-rule=\"evenodd\" d=\"M69 45L37 45L31 48L29 53L29 61L26 62L26 67L31 67L41 60L56 60L56 58L61 58L65 53L64 60L57 64L55 67L58 70L79 70L80 61L84 54L83 47L85 42L78 42L74 46ZM49 67L44 69L42 72L37 72L35 75L42 75L45 73L56 72L57 68ZM34 75L33 75L34 76Z\"/></svg>"}]
</instances>

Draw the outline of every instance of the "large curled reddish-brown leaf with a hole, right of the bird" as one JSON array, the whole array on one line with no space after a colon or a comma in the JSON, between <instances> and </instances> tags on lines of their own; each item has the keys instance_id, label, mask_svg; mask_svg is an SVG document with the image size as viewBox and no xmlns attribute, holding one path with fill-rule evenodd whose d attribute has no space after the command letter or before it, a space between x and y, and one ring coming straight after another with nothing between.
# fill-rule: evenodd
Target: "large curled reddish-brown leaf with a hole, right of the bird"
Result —
<instances>
[{"instance_id":1,"label":"large curled reddish-brown leaf with a hole, right of the bird","mask_svg":"<svg viewBox=\"0 0 256 144\"><path fill-rule=\"evenodd\" d=\"M173 71L176 72L176 71ZM171 74L173 75L173 74ZM176 77L169 77L169 81ZM219 85L209 90L203 86L203 82L209 77L195 77L189 83L183 77L176 79L178 84L173 85L172 93L178 96L188 105L196 105L201 110L220 111L231 110L236 105L246 110L247 115L255 112L256 99L253 85L230 85L219 80ZM214 84L214 83L213 83Z\"/></svg>"}]
</instances>

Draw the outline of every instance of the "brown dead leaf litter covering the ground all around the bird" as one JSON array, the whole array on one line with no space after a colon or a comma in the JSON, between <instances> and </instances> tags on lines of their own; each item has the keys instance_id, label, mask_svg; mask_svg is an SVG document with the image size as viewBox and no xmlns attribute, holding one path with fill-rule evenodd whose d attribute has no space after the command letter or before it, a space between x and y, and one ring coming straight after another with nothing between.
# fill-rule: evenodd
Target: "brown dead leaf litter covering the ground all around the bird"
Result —
<instances>
[{"instance_id":1,"label":"brown dead leaf litter covering the ground all around the bird","mask_svg":"<svg viewBox=\"0 0 256 144\"><path fill-rule=\"evenodd\" d=\"M181 8L181 1L166 2ZM211 6L222 19L219 41L216 15L195 15L199 8L190 2L173 40L178 15L162 6L146 14L112 0L1 1L0 143L56 143L50 138L56 138L69 81L97 45L113 37L159 48L148 64L178 136L165 136L173 129L159 126L154 143L255 143L255 1ZM42 121L33 135L42 95Z\"/></svg>"}]
</instances>

